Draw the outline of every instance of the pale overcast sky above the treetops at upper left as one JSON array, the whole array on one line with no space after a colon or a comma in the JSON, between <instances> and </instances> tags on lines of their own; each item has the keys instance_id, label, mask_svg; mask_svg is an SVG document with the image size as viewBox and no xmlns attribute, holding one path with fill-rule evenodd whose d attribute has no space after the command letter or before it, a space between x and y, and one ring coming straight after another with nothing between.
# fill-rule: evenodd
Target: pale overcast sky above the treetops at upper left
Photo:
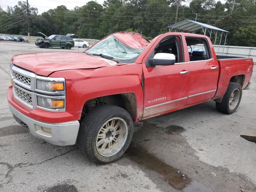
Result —
<instances>
[{"instance_id":1,"label":"pale overcast sky above the treetops at upper left","mask_svg":"<svg viewBox=\"0 0 256 192\"><path fill-rule=\"evenodd\" d=\"M3 10L7 9L7 6L15 6L19 0L0 0L0 6ZM26 1L26 0L21 0ZM28 3L32 7L38 8L38 13L48 11L50 8L56 8L59 5L65 5L68 9L73 9L75 6L83 6L90 0L28 0ZM103 4L104 0L96 0L99 4Z\"/></svg>"}]
</instances>

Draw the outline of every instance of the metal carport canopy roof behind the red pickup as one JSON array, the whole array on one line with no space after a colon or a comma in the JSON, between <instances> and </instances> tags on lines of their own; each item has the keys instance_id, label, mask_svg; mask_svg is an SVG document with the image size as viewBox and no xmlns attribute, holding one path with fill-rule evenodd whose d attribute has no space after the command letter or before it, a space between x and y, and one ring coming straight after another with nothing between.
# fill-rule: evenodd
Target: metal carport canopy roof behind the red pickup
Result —
<instances>
[{"instance_id":1,"label":"metal carport canopy roof behind the red pickup","mask_svg":"<svg viewBox=\"0 0 256 192\"><path fill-rule=\"evenodd\" d=\"M202 29L204 32L206 31L206 29L208 29L208 30L215 30L215 31L229 33L228 31L220 29L218 27L214 27L208 24L204 24L204 23L200 23L200 22L196 22L188 19L178 22L176 24L170 25L168 26L168 28L169 28L169 32L172 30L181 30L181 31L186 31L191 33L200 29Z\"/></svg>"}]
</instances>

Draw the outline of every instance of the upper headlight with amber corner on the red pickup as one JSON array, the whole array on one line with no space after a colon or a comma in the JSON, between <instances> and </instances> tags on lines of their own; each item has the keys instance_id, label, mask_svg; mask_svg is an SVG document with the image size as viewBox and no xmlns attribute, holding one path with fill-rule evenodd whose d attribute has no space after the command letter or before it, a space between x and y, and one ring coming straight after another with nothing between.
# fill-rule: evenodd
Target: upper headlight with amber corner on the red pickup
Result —
<instances>
[{"instance_id":1,"label":"upper headlight with amber corner on the red pickup","mask_svg":"<svg viewBox=\"0 0 256 192\"><path fill-rule=\"evenodd\" d=\"M56 91L64 91L64 82L53 82L53 81L46 81L46 80L36 80L36 89L41 91L48 91L48 92L56 92Z\"/></svg>"}]
</instances>

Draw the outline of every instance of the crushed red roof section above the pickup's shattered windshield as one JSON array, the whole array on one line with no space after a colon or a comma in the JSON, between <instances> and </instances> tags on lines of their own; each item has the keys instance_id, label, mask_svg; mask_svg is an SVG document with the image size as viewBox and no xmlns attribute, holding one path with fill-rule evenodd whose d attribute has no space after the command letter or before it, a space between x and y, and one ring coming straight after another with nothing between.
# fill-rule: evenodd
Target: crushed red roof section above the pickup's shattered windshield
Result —
<instances>
[{"instance_id":1,"label":"crushed red roof section above the pickup's shattered windshield","mask_svg":"<svg viewBox=\"0 0 256 192\"><path fill-rule=\"evenodd\" d=\"M150 42L142 37L139 33L134 32L118 32L113 34L118 40L134 49L146 47Z\"/></svg>"}]
</instances>

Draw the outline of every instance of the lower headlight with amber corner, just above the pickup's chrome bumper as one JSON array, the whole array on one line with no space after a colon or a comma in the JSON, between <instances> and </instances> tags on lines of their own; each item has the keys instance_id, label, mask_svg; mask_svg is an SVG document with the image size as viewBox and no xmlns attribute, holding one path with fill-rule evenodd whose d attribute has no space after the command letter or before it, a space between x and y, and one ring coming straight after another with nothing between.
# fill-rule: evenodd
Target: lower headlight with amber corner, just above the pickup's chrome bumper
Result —
<instances>
[{"instance_id":1,"label":"lower headlight with amber corner, just above the pickup's chrome bumper","mask_svg":"<svg viewBox=\"0 0 256 192\"><path fill-rule=\"evenodd\" d=\"M48 109L63 109L65 108L65 100L37 96L37 105Z\"/></svg>"}]
</instances>

